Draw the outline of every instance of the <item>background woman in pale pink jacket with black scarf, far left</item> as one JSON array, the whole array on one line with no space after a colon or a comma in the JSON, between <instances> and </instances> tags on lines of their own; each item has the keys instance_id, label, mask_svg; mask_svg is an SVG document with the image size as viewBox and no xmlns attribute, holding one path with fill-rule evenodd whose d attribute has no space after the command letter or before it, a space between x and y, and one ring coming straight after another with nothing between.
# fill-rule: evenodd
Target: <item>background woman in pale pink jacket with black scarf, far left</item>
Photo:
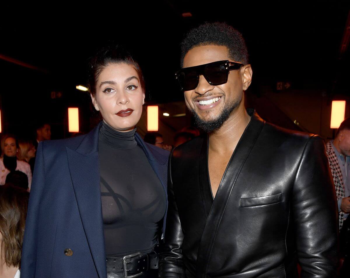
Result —
<instances>
[{"instance_id":1,"label":"background woman in pale pink jacket with black scarf, far left","mask_svg":"<svg viewBox=\"0 0 350 278\"><path fill-rule=\"evenodd\" d=\"M6 176L11 171L21 171L28 177L28 190L31 185L31 170L26 161L18 160L17 154L19 151L18 140L14 135L4 135L1 138L1 151L2 156L0 158L0 185L4 185Z\"/></svg>"}]
</instances>

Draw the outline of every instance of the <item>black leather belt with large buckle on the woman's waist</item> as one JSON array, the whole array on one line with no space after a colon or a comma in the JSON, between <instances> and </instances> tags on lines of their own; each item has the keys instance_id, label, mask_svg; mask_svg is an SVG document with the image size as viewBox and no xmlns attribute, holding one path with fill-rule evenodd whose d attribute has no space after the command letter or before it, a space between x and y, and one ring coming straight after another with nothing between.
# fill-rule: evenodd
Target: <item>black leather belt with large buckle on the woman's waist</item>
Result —
<instances>
[{"instance_id":1,"label":"black leather belt with large buckle on the woman's waist","mask_svg":"<svg viewBox=\"0 0 350 278\"><path fill-rule=\"evenodd\" d=\"M139 277L147 270L158 269L158 262L155 251L145 255L138 252L124 257L106 257L107 272L121 272L125 278Z\"/></svg>"}]
</instances>

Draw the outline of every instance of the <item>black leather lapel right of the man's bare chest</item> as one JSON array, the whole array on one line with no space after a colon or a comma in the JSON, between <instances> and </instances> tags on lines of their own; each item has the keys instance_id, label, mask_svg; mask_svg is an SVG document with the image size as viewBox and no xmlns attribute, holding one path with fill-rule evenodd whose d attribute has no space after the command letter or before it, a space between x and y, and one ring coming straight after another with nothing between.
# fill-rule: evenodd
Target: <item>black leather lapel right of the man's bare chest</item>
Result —
<instances>
[{"instance_id":1,"label":"black leather lapel right of the man's bare chest","mask_svg":"<svg viewBox=\"0 0 350 278\"><path fill-rule=\"evenodd\" d=\"M230 198L232 188L235 185L240 170L258 139L264 124L265 121L254 112L250 123L242 134L228 166L226 167L202 234L196 264L196 278L205 278L207 276L211 250L226 205Z\"/></svg>"}]
</instances>

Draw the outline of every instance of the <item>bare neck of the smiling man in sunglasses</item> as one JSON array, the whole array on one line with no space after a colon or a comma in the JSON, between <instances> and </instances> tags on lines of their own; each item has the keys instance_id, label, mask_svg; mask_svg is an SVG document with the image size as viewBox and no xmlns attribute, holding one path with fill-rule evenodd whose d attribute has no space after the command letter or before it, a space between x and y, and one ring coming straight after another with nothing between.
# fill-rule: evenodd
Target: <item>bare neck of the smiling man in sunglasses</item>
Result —
<instances>
[{"instance_id":1,"label":"bare neck of the smiling man in sunglasses","mask_svg":"<svg viewBox=\"0 0 350 278\"><path fill-rule=\"evenodd\" d=\"M251 117L241 103L218 130L208 134L209 148L218 153L232 153L250 119Z\"/></svg>"}]
</instances>

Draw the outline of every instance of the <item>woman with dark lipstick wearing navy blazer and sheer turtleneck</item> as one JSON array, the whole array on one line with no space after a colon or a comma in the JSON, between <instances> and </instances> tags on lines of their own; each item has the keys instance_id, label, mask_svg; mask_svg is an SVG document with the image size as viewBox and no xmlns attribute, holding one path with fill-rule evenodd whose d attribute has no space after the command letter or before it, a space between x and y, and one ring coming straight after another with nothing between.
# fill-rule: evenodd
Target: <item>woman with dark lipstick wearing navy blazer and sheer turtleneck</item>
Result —
<instances>
[{"instance_id":1,"label":"woman with dark lipstick wearing navy blazer and sheer turtleneck","mask_svg":"<svg viewBox=\"0 0 350 278\"><path fill-rule=\"evenodd\" d=\"M145 86L123 49L90 62L90 133L38 145L22 253L24 277L156 277L168 152L135 133ZM124 259L123 259L124 258Z\"/></svg>"}]
</instances>

